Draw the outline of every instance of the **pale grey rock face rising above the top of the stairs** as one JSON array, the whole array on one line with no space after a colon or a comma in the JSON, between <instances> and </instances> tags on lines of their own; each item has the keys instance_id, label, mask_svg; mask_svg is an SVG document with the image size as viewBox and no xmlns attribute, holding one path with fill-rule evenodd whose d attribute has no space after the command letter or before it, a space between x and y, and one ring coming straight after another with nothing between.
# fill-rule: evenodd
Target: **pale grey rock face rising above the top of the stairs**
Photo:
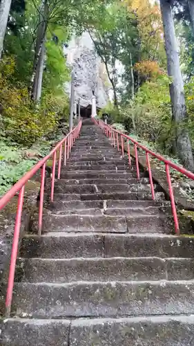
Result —
<instances>
[{"instance_id":1,"label":"pale grey rock face rising above the top of the stairs","mask_svg":"<svg viewBox=\"0 0 194 346\"><path fill-rule=\"evenodd\" d=\"M83 33L81 37L72 37L65 53L68 64L73 65L75 69L75 100L80 98L81 107L87 107L91 104L95 91L97 107L106 106L108 102L106 69L95 52L90 35ZM66 84L66 91L70 93L70 83Z\"/></svg>"}]
</instances>

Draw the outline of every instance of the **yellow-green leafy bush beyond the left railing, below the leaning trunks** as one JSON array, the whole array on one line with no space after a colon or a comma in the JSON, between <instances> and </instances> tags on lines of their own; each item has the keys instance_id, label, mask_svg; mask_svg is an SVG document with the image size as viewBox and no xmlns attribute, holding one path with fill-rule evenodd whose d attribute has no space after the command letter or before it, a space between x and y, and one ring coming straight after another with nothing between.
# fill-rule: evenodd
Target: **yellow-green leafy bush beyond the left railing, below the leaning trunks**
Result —
<instances>
[{"instance_id":1,"label":"yellow-green leafy bush beyond the left railing, below the leaning trunks","mask_svg":"<svg viewBox=\"0 0 194 346\"><path fill-rule=\"evenodd\" d=\"M41 104L32 104L26 87L10 83L14 67L12 58L1 62L0 135L20 145L30 146L57 127L67 100L65 96L59 98L47 93Z\"/></svg>"}]
</instances>

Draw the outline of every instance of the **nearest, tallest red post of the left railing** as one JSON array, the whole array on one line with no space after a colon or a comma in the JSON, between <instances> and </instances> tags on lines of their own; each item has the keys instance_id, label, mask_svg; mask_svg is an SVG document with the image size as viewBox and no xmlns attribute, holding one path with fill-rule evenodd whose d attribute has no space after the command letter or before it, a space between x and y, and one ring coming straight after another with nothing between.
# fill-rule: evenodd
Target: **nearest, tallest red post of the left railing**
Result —
<instances>
[{"instance_id":1,"label":"nearest, tallest red post of the left railing","mask_svg":"<svg viewBox=\"0 0 194 346\"><path fill-rule=\"evenodd\" d=\"M25 186L23 185L21 190L19 191L19 198L17 203L17 215L14 226L14 236L12 242L12 253L10 260L10 273L8 278L8 289L6 295L6 317L10 317L10 311L12 306L12 294L13 294L13 286L14 286L14 272L15 265L17 261L17 252L18 252L18 243L19 243L19 232L21 227L21 214L23 207L23 195L24 195Z\"/></svg>"}]
</instances>

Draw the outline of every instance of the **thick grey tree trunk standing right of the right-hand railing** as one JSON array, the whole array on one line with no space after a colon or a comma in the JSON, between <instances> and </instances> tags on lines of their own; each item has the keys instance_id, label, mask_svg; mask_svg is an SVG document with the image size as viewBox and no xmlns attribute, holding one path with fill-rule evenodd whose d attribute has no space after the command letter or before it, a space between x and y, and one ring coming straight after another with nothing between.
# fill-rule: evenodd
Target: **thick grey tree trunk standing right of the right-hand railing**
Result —
<instances>
[{"instance_id":1,"label":"thick grey tree trunk standing right of the right-hand railing","mask_svg":"<svg viewBox=\"0 0 194 346\"><path fill-rule=\"evenodd\" d=\"M187 115L184 98L184 83L180 71L180 59L178 55L171 3L168 0L160 0L160 6L164 25L168 75L172 78L170 93L173 120L176 127L177 154L180 157L182 164L188 170L193 171L193 153L188 129L186 128Z\"/></svg>"}]
</instances>

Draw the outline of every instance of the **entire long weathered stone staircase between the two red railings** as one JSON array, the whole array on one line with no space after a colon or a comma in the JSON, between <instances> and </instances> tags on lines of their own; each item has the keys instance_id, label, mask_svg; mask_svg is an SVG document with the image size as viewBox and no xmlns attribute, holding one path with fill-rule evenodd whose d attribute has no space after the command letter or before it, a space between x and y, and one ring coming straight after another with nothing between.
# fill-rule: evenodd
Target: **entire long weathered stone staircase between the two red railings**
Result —
<instances>
[{"instance_id":1,"label":"entire long weathered stone staircase between the two red railings","mask_svg":"<svg viewBox=\"0 0 194 346\"><path fill-rule=\"evenodd\" d=\"M86 120L43 235L35 217L23 238L1 345L194 345L194 238L172 235L156 196Z\"/></svg>"}]
</instances>

